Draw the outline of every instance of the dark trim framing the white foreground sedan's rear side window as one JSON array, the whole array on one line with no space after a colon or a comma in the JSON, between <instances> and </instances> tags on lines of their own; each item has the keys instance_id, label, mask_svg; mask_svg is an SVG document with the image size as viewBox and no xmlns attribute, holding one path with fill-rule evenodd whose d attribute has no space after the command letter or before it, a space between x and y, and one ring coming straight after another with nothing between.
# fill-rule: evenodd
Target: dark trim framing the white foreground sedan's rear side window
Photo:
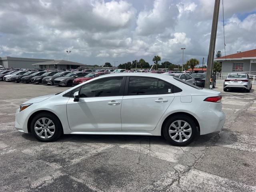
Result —
<instances>
[{"instance_id":1,"label":"dark trim framing the white foreground sedan's rear side window","mask_svg":"<svg viewBox=\"0 0 256 192\"><path fill-rule=\"evenodd\" d=\"M137 77L137 78L152 78L152 79L156 79L157 80L157 90L156 90L156 94L140 94L140 95L129 95L128 94L128 89L129 89L129 82L130 82L130 78L131 77ZM162 81L164 83L167 83L167 84L170 84L172 86L172 90L173 92L172 93L161 93L161 94L158 94L158 81ZM183 80L182 80L183 81ZM171 84L169 82L166 82L165 80L162 80L162 79L159 79L159 78L156 78L156 77L147 77L147 76L127 76L126 78L126 84L125 84L125 88L124 88L124 96L142 96L142 95L168 95L168 94L174 94L174 87L180 89L182 92L182 89L175 86L174 84Z\"/></svg>"}]
</instances>

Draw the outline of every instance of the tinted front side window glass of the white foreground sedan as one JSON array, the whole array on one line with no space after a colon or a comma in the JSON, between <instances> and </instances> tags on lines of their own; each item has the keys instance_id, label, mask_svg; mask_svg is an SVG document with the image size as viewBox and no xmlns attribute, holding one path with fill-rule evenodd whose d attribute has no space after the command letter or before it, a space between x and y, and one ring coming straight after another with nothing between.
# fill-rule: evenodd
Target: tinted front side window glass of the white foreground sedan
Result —
<instances>
[{"instance_id":1,"label":"tinted front side window glass of the white foreground sedan","mask_svg":"<svg viewBox=\"0 0 256 192\"><path fill-rule=\"evenodd\" d=\"M81 87L80 97L119 96L123 77L104 78Z\"/></svg>"}]
</instances>

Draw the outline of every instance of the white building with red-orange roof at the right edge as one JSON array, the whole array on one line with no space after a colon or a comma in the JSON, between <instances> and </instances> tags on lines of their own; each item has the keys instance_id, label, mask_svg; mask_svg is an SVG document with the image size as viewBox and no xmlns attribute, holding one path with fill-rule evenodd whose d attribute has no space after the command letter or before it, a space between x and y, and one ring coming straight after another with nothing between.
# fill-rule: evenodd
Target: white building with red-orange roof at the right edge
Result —
<instances>
[{"instance_id":1,"label":"white building with red-orange roof at the right edge","mask_svg":"<svg viewBox=\"0 0 256 192\"><path fill-rule=\"evenodd\" d=\"M214 60L222 62L222 73L256 73L256 49L215 58Z\"/></svg>"}]
</instances>

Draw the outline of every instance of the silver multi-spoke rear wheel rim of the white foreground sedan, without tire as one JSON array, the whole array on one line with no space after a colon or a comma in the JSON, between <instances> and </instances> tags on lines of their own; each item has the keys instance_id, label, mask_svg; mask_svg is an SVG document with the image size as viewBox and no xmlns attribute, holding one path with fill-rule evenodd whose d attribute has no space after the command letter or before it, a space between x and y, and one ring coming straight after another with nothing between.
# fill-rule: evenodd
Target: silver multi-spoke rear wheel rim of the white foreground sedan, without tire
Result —
<instances>
[{"instance_id":1,"label":"silver multi-spoke rear wheel rim of the white foreground sedan, without tire","mask_svg":"<svg viewBox=\"0 0 256 192\"><path fill-rule=\"evenodd\" d=\"M184 120L176 120L169 126L170 138L176 142L186 142L192 135L190 124Z\"/></svg>"}]
</instances>

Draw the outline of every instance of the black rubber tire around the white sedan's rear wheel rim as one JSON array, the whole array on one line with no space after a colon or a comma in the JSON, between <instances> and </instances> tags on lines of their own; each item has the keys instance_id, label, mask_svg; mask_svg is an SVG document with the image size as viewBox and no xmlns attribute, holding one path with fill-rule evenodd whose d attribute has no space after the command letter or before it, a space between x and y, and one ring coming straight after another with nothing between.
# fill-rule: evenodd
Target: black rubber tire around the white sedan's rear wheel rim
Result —
<instances>
[{"instance_id":1,"label":"black rubber tire around the white sedan's rear wheel rim","mask_svg":"<svg viewBox=\"0 0 256 192\"><path fill-rule=\"evenodd\" d=\"M189 138L188 140L184 141L184 142L176 142L176 141L174 141L174 140L171 138L170 134L169 134L169 127L171 126L171 124L172 124L173 122L176 122L177 120L182 120L182 121L187 122L187 123L190 125L191 129L192 129L192 133L191 133L190 138ZM184 124L183 124L183 125L184 125ZM177 128L177 129L178 129L178 128ZM181 131L181 130L180 130L180 131ZM180 135L185 134L185 132L186 132L186 131L181 132L181 134L179 134L177 137L180 137ZM197 131L196 131L196 124L195 124L194 120L193 120L192 118L190 118L189 116L186 116L186 115L175 115L175 116L169 118L169 119L164 123L164 127L163 127L164 138L165 138L168 142L170 142L172 145L175 145L175 146L186 146L186 145L190 144L190 143L194 140L194 138L195 138L195 136L196 136L196 133L197 133ZM176 133L173 133L173 134L175 135ZM186 135L187 135L187 134L186 134ZM177 137L176 137L176 138L177 138ZM182 136L182 138L185 139L184 136Z\"/></svg>"}]
</instances>

